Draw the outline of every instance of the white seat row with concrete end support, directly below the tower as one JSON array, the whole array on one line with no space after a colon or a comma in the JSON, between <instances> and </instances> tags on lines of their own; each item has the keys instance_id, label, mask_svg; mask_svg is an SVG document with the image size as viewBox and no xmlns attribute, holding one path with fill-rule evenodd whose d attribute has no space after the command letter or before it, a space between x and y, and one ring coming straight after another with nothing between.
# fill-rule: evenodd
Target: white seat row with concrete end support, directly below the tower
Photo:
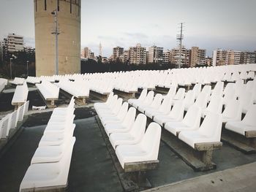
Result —
<instances>
[{"instance_id":1,"label":"white seat row with concrete end support, directly below the tower","mask_svg":"<svg viewBox=\"0 0 256 192\"><path fill-rule=\"evenodd\" d=\"M36 84L36 86L47 107L56 107L55 101L59 99L59 88L48 81L42 81L41 84Z\"/></svg>"}]
</instances>

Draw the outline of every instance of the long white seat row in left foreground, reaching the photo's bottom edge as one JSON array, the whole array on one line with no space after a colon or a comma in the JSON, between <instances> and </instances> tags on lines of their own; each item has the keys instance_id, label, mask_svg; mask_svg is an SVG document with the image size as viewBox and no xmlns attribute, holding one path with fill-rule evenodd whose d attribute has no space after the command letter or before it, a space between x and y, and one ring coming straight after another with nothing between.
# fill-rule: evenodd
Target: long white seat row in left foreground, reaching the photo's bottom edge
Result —
<instances>
[{"instance_id":1,"label":"long white seat row in left foreground, reaching the photo's bottom edge","mask_svg":"<svg viewBox=\"0 0 256 192\"><path fill-rule=\"evenodd\" d=\"M53 110L48 125L31 159L20 191L61 190L67 187L75 137L72 137L75 99L69 106Z\"/></svg>"}]
</instances>

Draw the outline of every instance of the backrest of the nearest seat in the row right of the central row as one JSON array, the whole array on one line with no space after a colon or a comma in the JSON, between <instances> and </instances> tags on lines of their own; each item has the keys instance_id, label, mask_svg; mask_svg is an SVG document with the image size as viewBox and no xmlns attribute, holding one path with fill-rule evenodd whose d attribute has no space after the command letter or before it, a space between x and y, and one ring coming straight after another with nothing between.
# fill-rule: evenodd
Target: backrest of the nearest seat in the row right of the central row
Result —
<instances>
[{"instance_id":1,"label":"backrest of the nearest seat in the row right of the central row","mask_svg":"<svg viewBox=\"0 0 256 192\"><path fill-rule=\"evenodd\" d=\"M220 142L222 134L222 115L208 112L199 128L200 134L214 139L214 142Z\"/></svg>"}]
</instances>

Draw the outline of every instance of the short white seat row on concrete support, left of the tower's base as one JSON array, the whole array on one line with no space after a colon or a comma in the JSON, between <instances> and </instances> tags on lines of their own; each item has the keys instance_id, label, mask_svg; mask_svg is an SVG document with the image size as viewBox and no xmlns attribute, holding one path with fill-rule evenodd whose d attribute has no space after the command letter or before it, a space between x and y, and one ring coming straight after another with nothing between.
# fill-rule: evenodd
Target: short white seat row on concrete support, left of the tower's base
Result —
<instances>
[{"instance_id":1,"label":"short white seat row on concrete support, left of the tower's base","mask_svg":"<svg viewBox=\"0 0 256 192\"><path fill-rule=\"evenodd\" d=\"M18 109L21 105L26 102L28 98L29 88L26 85L26 82L23 85L17 85L15 88L15 93L12 97L12 105L15 105L15 109Z\"/></svg>"}]
</instances>

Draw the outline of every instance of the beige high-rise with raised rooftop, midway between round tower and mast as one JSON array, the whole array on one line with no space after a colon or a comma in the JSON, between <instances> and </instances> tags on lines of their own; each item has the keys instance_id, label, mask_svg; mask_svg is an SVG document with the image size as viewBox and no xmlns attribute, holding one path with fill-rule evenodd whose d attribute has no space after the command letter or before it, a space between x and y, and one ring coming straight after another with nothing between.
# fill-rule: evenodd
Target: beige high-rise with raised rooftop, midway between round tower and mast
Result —
<instances>
[{"instance_id":1,"label":"beige high-rise with raised rooftop, midway between round tower and mast","mask_svg":"<svg viewBox=\"0 0 256 192\"><path fill-rule=\"evenodd\" d=\"M141 47L138 43L136 47L129 47L130 64L146 64L146 47Z\"/></svg>"}]
</instances>

